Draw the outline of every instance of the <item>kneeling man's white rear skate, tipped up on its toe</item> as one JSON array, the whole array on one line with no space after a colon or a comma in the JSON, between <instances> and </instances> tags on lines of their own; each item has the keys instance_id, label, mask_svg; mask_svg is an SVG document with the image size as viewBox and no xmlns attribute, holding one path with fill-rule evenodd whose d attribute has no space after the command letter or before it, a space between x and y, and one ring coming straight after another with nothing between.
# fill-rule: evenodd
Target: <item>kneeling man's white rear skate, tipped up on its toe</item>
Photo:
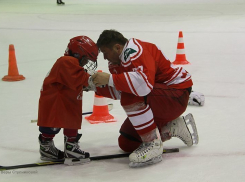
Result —
<instances>
[{"instance_id":1,"label":"kneeling man's white rear skate, tipped up on its toe","mask_svg":"<svg viewBox=\"0 0 245 182\"><path fill-rule=\"evenodd\" d=\"M198 144L199 137L195 124L195 120L191 113L185 117L178 117L169 122L161 131L162 141L166 141L171 137L181 139L188 147Z\"/></svg>"}]
</instances>

